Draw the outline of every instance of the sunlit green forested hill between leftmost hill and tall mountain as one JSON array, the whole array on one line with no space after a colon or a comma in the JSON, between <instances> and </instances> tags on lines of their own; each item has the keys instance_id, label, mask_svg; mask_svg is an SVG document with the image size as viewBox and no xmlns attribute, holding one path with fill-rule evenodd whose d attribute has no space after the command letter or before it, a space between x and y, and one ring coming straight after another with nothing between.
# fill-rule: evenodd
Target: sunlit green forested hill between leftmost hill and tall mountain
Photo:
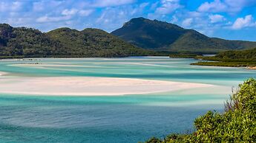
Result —
<instances>
[{"instance_id":1,"label":"sunlit green forested hill between leftmost hill and tall mountain","mask_svg":"<svg viewBox=\"0 0 256 143\"><path fill-rule=\"evenodd\" d=\"M66 51L79 57L126 57L128 55L150 55L145 49L132 46L101 29L61 28L46 35L61 43Z\"/></svg>"}]
</instances>

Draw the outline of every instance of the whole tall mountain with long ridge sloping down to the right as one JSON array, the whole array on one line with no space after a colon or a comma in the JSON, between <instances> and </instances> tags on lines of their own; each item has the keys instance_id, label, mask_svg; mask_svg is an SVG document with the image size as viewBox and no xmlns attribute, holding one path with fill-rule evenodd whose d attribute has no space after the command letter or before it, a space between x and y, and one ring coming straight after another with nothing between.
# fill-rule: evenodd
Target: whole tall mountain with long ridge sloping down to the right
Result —
<instances>
[{"instance_id":1,"label":"whole tall mountain with long ridge sloping down to the right","mask_svg":"<svg viewBox=\"0 0 256 143\"><path fill-rule=\"evenodd\" d=\"M256 42L209 38L194 29L184 29L175 24L146 18L133 18L111 34L134 46L156 51L216 53L256 47Z\"/></svg>"}]
</instances>

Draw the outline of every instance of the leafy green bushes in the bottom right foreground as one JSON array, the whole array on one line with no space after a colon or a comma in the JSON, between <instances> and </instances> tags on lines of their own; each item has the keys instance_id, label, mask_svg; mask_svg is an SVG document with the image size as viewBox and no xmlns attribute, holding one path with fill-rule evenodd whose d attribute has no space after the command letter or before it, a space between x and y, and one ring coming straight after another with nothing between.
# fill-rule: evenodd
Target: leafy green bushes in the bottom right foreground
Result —
<instances>
[{"instance_id":1,"label":"leafy green bushes in the bottom right foreground","mask_svg":"<svg viewBox=\"0 0 256 143\"><path fill-rule=\"evenodd\" d=\"M223 114L209 111L195 119L194 126L194 133L171 134L163 140L152 138L147 143L255 142L256 80L246 80L234 91Z\"/></svg>"}]
</instances>

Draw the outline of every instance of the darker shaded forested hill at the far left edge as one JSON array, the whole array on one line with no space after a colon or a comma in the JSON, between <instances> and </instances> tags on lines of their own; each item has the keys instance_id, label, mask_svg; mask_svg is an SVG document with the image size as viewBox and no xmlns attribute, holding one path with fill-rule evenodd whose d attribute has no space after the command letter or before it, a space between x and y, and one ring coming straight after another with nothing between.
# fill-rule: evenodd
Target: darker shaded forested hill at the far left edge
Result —
<instances>
[{"instance_id":1,"label":"darker shaded forested hill at the far left edge","mask_svg":"<svg viewBox=\"0 0 256 143\"><path fill-rule=\"evenodd\" d=\"M58 42L51 40L37 29L13 28L8 24L0 24L0 56L46 56L55 55L61 51Z\"/></svg>"}]
</instances>

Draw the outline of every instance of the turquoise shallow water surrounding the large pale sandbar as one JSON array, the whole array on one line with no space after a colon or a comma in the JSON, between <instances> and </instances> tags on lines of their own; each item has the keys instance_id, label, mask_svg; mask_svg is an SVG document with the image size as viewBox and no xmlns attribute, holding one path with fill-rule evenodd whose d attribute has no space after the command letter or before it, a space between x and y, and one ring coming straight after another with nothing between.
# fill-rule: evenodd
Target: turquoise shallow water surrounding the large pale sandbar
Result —
<instances>
[{"instance_id":1,"label":"turquoise shallow water surrounding the large pale sandbar","mask_svg":"<svg viewBox=\"0 0 256 143\"><path fill-rule=\"evenodd\" d=\"M0 142L142 142L194 130L206 111L223 111L232 86L256 77L243 68L191 66L168 57L1 60L7 77L129 77L215 87L113 97L0 94ZM20 66L20 63L42 66ZM0 77L0 80L3 77ZM15 87L14 87L15 88Z\"/></svg>"}]
</instances>

